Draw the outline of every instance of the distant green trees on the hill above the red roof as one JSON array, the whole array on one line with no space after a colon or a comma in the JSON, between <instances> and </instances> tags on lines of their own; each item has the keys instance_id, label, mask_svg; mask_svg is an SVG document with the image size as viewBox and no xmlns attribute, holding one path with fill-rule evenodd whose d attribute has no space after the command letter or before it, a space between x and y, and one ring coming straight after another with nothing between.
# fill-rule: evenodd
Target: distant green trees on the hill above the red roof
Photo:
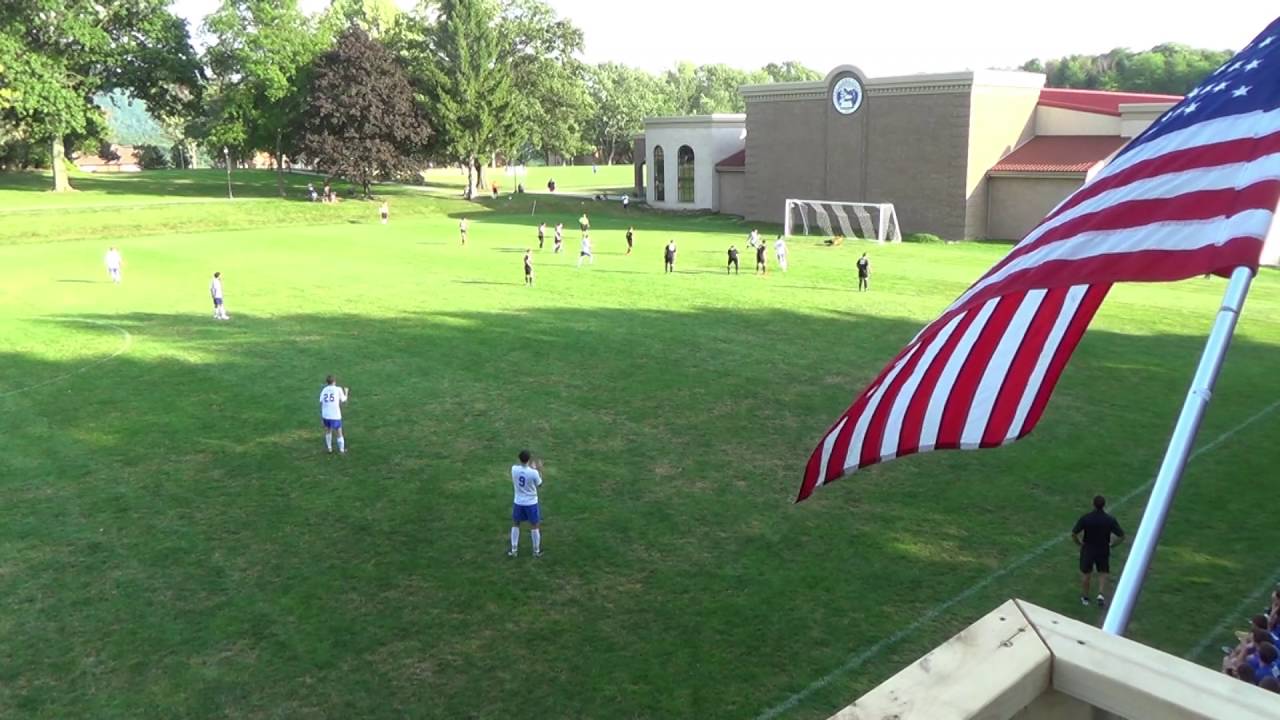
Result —
<instances>
[{"instance_id":1,"label":"distant green trees on the hill above the red roof","mask_svg":"<svg viewBox=\"0 0 1280 720\"><path fill-rule=\"evenodd\" d=\"M1019 69L1044 73L1048 87L1185 95L1234 54L1166 42L1137 53L1117 47L1102 55L1028 60Z\"/></svg>"}]
</instances>

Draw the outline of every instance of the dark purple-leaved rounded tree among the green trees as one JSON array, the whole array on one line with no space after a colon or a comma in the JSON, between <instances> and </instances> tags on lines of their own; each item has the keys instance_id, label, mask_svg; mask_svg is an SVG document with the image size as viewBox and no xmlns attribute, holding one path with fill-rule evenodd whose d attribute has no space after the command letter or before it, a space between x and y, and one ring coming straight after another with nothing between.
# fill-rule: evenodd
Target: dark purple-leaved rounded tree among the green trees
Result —
<instances>
[{"instance_id":1,"label":"dark purple-leaved rounded tree among the green trees","mask_svg":"<svg viewBox=\"0 0 1280 720\"><path fill-rule=\"evenodd\" d=\"M328 177L369 184L413 168L430 131L396 58L358 26L316 58L298 150Z\"/></svg>"}]
</instances>

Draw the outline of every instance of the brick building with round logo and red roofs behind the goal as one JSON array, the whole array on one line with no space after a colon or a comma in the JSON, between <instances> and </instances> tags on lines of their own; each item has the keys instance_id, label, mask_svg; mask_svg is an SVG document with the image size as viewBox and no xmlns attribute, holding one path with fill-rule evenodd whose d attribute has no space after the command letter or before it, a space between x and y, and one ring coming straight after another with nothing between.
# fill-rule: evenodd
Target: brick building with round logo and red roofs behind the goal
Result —
<instances>
[{"instance_id":1,"label":"brick building with round logo and red roofs behind the goal","mask_svg":"<svg viewBox=\"0 0 1280 720\"><path fill-rule=\"evenodd\" d=\"M781 222L785 200L892 202L902 232L1019 238L1180 100L978 70L745 86L744 115L650 118L636 192Z\"/></svg>"}]
</instances>

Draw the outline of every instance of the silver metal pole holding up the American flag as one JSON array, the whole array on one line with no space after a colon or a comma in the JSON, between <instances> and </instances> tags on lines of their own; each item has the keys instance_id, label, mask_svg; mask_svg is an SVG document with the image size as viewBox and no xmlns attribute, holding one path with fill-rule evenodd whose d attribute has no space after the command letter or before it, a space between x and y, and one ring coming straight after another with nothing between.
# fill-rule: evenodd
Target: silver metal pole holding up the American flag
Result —
<instances>
[{"instance_id":1,"label":"silver metal pole holding up the American flag","mask_svg":"<svg viewBox=\"0 0 1280 720\"><path fill-rule=\"evenodd\" d=\"M1129 626L1129 618L1138 603L1138 594L1147 578L1147 569L1151 568L1151 559L1156 555L1160 533L1165 529L1165 520L1174 505L1174 496L1178 495L1178 483L1181 480L1183 469L1187 468L1187 459L1196 442L1196 432L1199 430L1204 407L1208 406L1213 395L1213 383L1217 380L1219 370L1222 369L1226 348L1231 345L1235 322L1240 316L1240 307L1244 306L1244 296L1249 292L1251 282L1253 282L1253 270L1249 268L1242 266L1231 272L1226 293L1222 296L1222 306L1219 309L1213 328L1208 333L1204 354L1201 355L1199 366L1196 368L1196 377L1187 392L1187 401L1178 416L1178 424L1174 425L1174 436L1169 441L1169 448L1165 450L1165 460L1160 464L1156 484L1151 489L1147 510L1143 512L1138 533L1134 536L1133 550L1129 552L1124 573L1120 574L1120 583L1116 584L1115 594L1111 598L1111 610L1107 611L1107 618L1102 623L1103 632L1112 635L1123 635Z\"/></svg>"}]
</instances>

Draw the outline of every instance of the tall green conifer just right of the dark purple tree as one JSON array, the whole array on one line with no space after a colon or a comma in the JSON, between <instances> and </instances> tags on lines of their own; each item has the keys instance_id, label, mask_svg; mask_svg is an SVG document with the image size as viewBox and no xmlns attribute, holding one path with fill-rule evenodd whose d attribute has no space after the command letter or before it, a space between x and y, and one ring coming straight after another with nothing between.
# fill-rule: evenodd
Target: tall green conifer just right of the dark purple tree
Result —
<instances>
[{"instance_id":1,"label":"tall green conifer just right of the dark purple tree","mask_svg":"<svg viewBox=\"0 0 1280 720\"><path fill-rule=\"evenodd\" d=\"M410 70L435 127L433 154L467 168L467 197L484 182L484 159L513 150L522 119L515 81L506 64L494 8L485 0L443 0L420 5L401 28Z\"/></svg>"}]
</instances>

